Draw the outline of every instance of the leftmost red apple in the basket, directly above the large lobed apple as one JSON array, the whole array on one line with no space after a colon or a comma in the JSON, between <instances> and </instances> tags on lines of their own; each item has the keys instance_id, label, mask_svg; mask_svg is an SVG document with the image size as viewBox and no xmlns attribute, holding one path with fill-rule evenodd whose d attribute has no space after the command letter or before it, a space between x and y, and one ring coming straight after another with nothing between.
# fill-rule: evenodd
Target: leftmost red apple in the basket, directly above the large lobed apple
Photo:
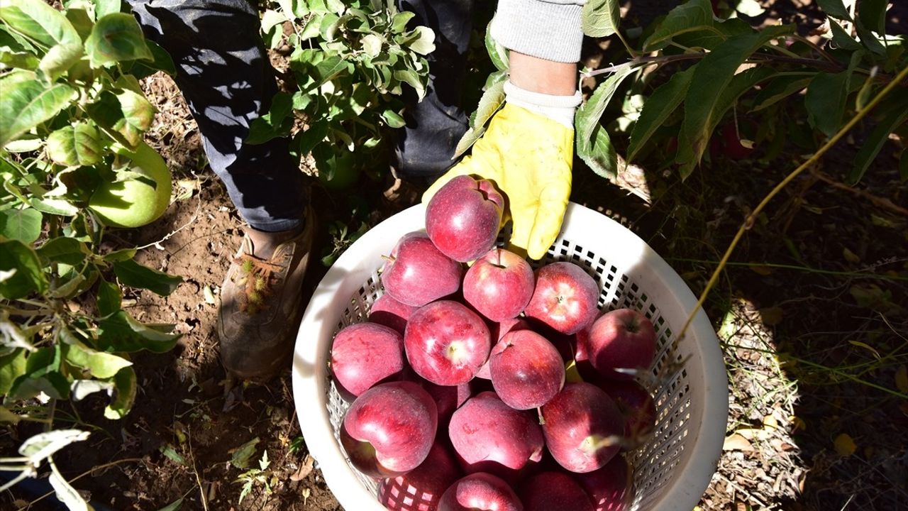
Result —
<instances>
[{"instance_id":1,"label":"leftmost red apple in the basket, directly above the large lobed apple","mask_svg":"<svg viewBox=\"0 0 908 511\"><path fill-rule=\"evenodd\" d=\"M400 377L406 366L403 336L375 323L345 326L331 345L331 374L345 398Z\"/></svg>"}]
</instances>

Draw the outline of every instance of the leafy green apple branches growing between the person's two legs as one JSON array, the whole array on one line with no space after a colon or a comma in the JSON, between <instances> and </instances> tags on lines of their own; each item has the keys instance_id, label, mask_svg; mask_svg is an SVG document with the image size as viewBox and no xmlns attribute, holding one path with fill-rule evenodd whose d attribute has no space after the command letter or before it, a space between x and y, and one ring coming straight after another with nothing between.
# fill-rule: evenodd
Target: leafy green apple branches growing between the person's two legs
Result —
<instances>
[{"instance_id":1,"label":"leafy green apple branches growing between the person's two legs","mask_svg":"<svg viewBox=\"0 0 908 511\"><path fill-rule=\"evenodd\" d=\"M342 187L375 168L386 127L404 125L401 95L426 93L435 35L393 0L279 0L262 13L265 44L289 53L296 90L276 95L250 140L292 136L320 179ZM409 90L407 90L409 89ZM297 119L305 130L296 129Z\"/></svg>"}]
</instances>

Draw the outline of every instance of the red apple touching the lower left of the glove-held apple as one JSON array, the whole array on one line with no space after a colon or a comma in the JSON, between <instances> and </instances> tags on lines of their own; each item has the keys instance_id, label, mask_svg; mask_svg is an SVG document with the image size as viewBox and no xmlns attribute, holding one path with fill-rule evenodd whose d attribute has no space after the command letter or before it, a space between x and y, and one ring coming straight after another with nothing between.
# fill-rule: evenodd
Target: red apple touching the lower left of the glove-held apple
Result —
<instances>
[{"instance_id":1,"label":"red apple touching the lower left of the glove-held apple","mask_svg":"<svg viewBox=\"0 0 908 511\"><path fill-rule=\"evenodd\" d=\"M403 235L381 271L385 291L400 303L421 307L460 288L463 266L423 232Z\"/></svg>"}]
</instances>

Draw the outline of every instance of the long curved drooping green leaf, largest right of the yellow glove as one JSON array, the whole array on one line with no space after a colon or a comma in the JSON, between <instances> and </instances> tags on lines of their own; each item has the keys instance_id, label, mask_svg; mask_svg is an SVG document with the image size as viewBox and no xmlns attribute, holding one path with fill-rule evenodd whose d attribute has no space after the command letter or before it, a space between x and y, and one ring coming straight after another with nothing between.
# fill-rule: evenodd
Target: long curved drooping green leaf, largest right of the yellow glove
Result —
<instances>
[{"instance_id":1,"label":"long curved drooping green leaf, largest right of the yellow glove","mask_svg":"<svg viewBox=\"0 0 908 511\"><path fill-rule=\"evenodd\" d=\"M700 162L713 129L730 106L721 105L720 100L737 68L760 46L793 30L791 25L776 25L753 34L733 35L696 65L687 88L685 118L678 134L676 162L681 165L681 175L689 175Z\"/></svg>"}]
</instances>

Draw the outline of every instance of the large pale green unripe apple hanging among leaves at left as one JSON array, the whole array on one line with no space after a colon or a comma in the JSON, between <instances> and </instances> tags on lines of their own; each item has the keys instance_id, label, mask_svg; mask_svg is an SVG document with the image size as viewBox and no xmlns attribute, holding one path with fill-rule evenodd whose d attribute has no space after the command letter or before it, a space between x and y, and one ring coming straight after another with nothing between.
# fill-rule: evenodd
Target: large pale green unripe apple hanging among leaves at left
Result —
<instances>
[{"instance_id":1,"label":"large pale green unripe apple hanging among leaves at left","mask_svg":"<svg viewBox=\"0 0 908 511\"><path fill-rule=\"evenodd\" d=\"M144 142L134 151L114 145L114 152L128 158L128 170L142 176L102 183L88 200L88 208L104 225L141 227L152 223L170 205L171 175L167 165Z\"/></svg>"}]
</instances>

